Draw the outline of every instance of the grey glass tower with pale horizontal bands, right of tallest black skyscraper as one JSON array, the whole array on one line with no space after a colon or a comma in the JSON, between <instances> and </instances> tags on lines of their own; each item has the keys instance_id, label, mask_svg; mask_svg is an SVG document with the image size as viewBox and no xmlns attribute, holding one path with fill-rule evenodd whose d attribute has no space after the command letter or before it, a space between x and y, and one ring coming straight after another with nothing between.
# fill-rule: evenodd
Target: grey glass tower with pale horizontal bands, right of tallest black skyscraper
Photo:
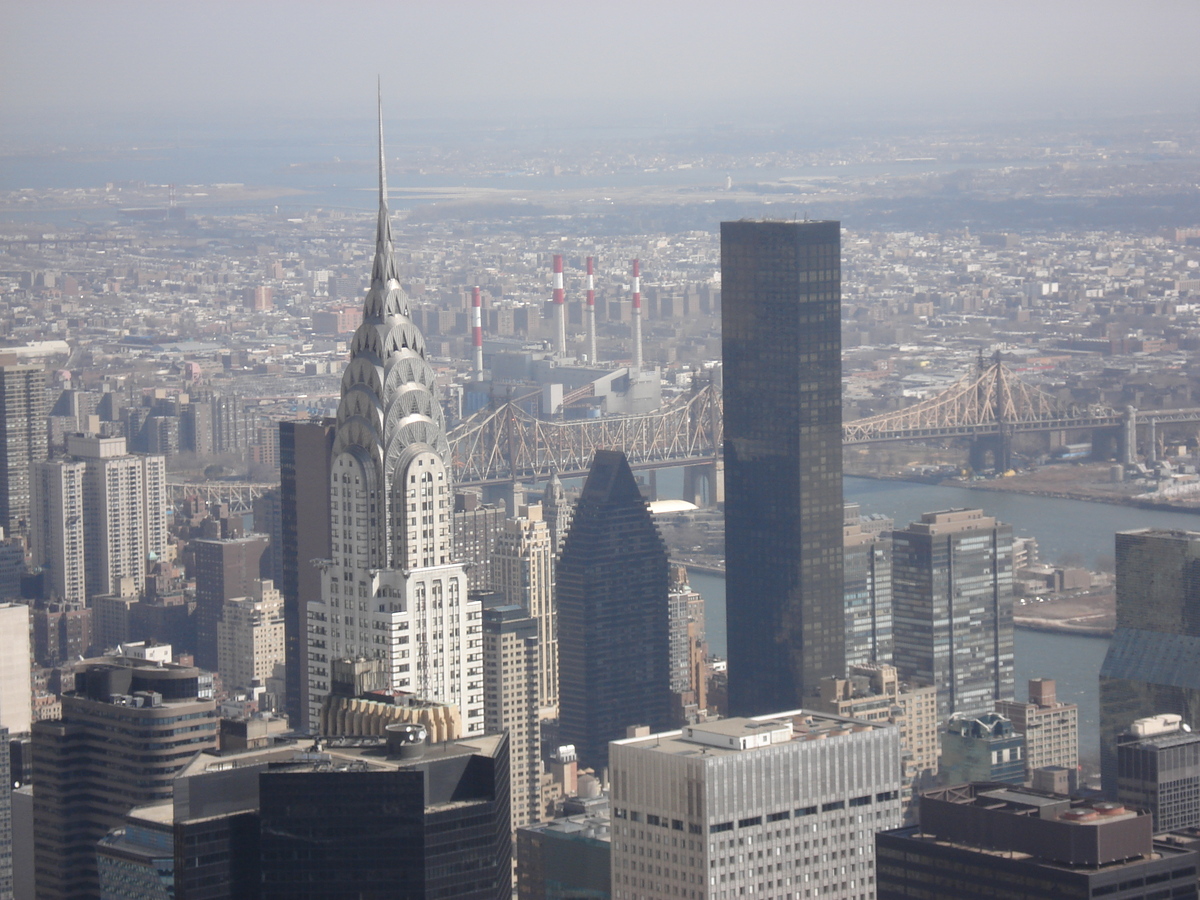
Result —
<instances>
[{"instance_id":1,"label":"grey glass tower with pale horizontal bands, right of tallest black skyscraper","mask_svg":"<svg viewBox=\"0 0 1200 900\"><path fill-rule=\"evenodd\" d=\"M893 661L937 688L937 712L1013 697L1013 529L983 510L926 512L892 533Z\"/></svg>"}]
</instances>

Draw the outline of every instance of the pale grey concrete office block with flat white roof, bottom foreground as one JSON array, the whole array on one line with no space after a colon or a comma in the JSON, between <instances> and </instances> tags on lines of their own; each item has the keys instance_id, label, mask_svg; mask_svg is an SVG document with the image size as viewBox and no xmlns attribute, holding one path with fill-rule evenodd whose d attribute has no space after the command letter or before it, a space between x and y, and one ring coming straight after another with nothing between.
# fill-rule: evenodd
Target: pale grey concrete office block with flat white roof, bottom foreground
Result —
<instances>
[{"instance_id":1,"label":"pale grey concrete office block with flat white roof, bottom foreground","mask_svg":"<svg viewBox=\"0 0 1200 900\"><path fill-rule=\"evenodd\" d=\"M610 755L614 900L874 898L871 835L900 824L894 727L797 709Z\"/></svg>"}]
</instances>

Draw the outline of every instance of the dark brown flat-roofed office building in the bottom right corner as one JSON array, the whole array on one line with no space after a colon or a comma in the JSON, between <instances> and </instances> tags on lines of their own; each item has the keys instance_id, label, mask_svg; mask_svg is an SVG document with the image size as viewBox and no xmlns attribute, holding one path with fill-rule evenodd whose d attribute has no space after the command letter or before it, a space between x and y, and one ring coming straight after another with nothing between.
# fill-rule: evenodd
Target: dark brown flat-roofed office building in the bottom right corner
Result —
<instances>
[{"instance_id":1,"label":"dark brown flat-roofed office building in the bottom right corner","mask_svg":"<svg viewBox=\"0 0 1200 900\"><path fill-rule=\"evenodd\" d=\"M1193 850L1156 841L1151 817L1009 785L920 798L920 824L875 835L877 900L1195 898Z\"/></svg>"}]
</instances>

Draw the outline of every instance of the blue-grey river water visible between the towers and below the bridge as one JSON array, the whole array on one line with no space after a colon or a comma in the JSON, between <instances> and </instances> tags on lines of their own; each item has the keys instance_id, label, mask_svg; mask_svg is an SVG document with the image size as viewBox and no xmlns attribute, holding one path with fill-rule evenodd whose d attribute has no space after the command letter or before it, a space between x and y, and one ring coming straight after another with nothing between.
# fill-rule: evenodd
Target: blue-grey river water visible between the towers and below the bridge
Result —
<instances>
[{"instance_id":1,"label":"blue-grey river water visible between the towers and below the bridge","mask_svg":"<svg viewBox=\"0 0 1200 900\"><path fill-rule=\"evenodd\" d=\"M665 474L665 473L664 473ZM673 479L659 475L660 497L671 496ZM1112 535L1130 528L1175 528L1200 530L1200 516L1188 512L1142 510L1104 503L1031 497L1018 493L972 491L906 481L845 479L847 503L858 503L864 514L882 514L895 520L896 527L920 517L922 512L968 506L1013 526L1015 534L1037 538L1040 557L1058 562L1074 557L1087 568L1096 568L1099 557L1112 557ZM725 655L725 578L694 571L691 586L704 598L710 650ZM1084 758L1098 756L1100 664L1108 650L1108 638L1016 630L1016 697L1026 697L1030 678L1057 680L1058 697L1080 708L1080 752Z\"/></svg>"}]
</instances>

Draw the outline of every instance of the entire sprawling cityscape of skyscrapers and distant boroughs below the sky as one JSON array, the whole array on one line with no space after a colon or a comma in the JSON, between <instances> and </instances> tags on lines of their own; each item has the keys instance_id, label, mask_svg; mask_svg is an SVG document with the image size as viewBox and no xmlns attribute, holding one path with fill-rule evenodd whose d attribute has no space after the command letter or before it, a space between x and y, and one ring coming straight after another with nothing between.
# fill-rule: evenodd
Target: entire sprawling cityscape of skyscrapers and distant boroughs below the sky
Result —
<instances>
[{"instance_id":1,"label":"entire sprawling cityscape of skyscrapers and distant boroughs below the sky","mask_svg":"<svg viewBox=\"0 0 1200 900\"><path fill-rule=\"evenodd\" d=\"M1200 895L1194 130L385 125L0 191L0 900Z\"/></svg>"}]
</instances>

